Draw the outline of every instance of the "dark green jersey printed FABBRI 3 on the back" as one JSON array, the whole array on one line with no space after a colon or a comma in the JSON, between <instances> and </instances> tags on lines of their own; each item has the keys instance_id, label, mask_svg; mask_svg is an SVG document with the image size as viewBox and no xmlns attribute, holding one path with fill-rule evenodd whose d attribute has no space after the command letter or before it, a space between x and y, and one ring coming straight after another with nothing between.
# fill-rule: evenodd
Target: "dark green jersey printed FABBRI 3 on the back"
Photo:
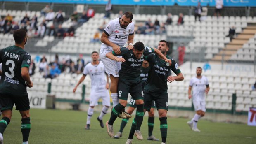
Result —
<instances>
[{"instance_id":1,"label":"dark green jersey printed FABBRI 3 on the back","mask_svg":"<svg viewBox=\"0 0 256 144\"><path fill-rule=\"evenodd\" d=\"M26 81L21 77L21 68L29 67L31 56L18 46L9 46L0 51L2 77L0 94L28 95Z\"/></svg>"}]
</instances>

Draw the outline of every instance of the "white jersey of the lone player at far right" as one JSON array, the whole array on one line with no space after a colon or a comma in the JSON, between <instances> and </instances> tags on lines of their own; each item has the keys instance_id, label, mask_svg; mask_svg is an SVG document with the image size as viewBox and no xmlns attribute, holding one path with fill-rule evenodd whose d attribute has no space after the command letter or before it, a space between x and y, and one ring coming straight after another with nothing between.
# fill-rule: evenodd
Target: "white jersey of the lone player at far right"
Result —
<instances>
[{"instance_id":1,"label":"white jersey of the lone player at far right","mask_svg":"<svg viewBox=\"0 0 256 144\"><path fill-rule=\"evenodd\" d=\"M190 86L193 88L193 100L205 100L204 93L206 90L206 85L209 85L206 77L202 76L201 79L192 77L190 80Z\"/></svg>"}]
</instances>

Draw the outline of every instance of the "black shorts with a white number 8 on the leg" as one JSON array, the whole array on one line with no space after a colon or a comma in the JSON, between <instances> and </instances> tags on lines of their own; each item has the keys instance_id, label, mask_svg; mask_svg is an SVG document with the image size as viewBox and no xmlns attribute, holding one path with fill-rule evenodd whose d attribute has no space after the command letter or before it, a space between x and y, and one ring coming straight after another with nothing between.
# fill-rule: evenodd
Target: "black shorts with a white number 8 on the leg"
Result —
<instances>
[{"instance_id":1,"label":"black shorts with a white number 8 on the leg","mask_svg":"<svg viewBox=\"0 0 256 144\"><path fill-rule=\"evenodd\" d=\"M118 97L121 100L127 100L128 93L134 100L143 100L143 91L140 81L122 81L118 82Z\"/></svg>"}]
</instances>

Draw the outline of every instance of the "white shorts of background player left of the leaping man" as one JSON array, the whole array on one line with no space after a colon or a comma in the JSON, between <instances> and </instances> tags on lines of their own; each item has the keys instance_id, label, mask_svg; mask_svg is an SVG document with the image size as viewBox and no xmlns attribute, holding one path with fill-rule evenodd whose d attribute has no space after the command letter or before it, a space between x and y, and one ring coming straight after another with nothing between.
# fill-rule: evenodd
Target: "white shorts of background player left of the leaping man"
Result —
<instances>
[{"instance_id":1,"label":"white shorts of background player left of the leaping man","mask_svg":"<svg viewBox=\"0 0 256 144\"><path fill-rule=\"evenodd\" d=\"M102 105L110 107L110 96L107 89L100 92L92 90L90 93L90 106L98 105L100 98L102 98Z\"/></svg>"}]
</instances>

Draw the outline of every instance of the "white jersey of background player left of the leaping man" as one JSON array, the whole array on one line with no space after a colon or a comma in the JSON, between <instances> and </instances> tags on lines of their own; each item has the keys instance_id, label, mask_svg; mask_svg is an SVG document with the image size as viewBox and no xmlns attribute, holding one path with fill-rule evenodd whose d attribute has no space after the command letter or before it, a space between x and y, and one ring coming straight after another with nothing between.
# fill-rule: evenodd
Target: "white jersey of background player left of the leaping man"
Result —
<instances>
[{"instance_id":1,"label":"white jersey of background player left of the leaping man","mask_svg":"<svg viewBox=\"0 0 256 144\"><path fill-rule=\"evenodd\" d=\"M107 81L105 80L106 74L102 61L100 61L98 65L92 65L92 63L88 63L83 70L83 74L90 75L92 90L106 90Z\"/></svg>"}]
</instances>

